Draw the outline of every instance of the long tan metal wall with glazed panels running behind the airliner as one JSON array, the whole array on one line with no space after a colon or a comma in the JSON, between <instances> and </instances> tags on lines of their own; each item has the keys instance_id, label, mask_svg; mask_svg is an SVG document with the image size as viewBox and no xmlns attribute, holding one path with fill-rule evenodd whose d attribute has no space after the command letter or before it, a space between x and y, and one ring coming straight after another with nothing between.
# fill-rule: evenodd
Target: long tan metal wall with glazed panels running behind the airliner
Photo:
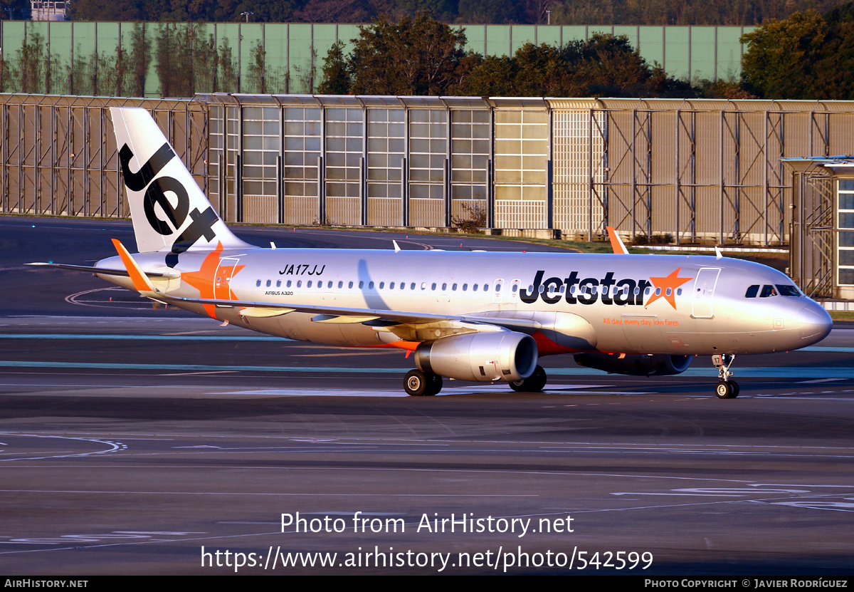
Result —
<instances>
[{"instance_id":1,"label":"long tan metal wall with glazed panels running behind the airliner","mask_svg":"<svg viewBox=\"0 0 854 592\"><path fill-rule=\"evenodd\" d=\"M121 105L155 115L226 222L791 246L806 293L854 299L854 102L5 94L0 211L128 216Z\"/></svg>"}]
</instances>

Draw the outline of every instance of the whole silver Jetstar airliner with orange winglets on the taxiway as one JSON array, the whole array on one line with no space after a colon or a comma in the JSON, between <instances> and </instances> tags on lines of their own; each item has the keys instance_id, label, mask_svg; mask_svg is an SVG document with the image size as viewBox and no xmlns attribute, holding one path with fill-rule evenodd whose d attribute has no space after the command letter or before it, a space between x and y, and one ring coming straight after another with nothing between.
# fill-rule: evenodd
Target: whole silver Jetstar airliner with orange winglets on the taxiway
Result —
<instances>
[{"instance_id":1,"label":"whole silver Jetstar airliner with orange winglets on the taxiway","mask_svg":"<svg viewBox=\"0 0 854 592\"><path fill-rule=\"evenodd\" d=\"M738 395L736 354L810 346L832 326L786 275L720 257L259 248L213 210L149 113L110 110L139 253L91 271L149 299L261 333L414 352L404 388L442 377L540 391L546 355L627 375L711 355ZM616 234L615 251L624 252ZM619 245L619 247L617 247Z\"/></svg>"}]
</instances>

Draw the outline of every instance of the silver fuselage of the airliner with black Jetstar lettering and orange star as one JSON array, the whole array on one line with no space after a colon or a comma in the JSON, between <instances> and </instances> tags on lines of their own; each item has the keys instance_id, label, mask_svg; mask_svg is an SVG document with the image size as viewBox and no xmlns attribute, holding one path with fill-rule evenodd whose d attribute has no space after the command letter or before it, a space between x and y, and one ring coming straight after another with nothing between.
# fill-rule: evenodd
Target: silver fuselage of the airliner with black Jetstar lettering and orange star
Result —
<instances>
[{"instance_id":1,"label":"silver fuselage of the airliner with black Jetstar lettering and orange star","mask_svg":"<svg viewBox=\"0 0 854 592\"><path fill-rule=\"evenodd\" d=\"M731 258L249 249L188 251L174 269L161 253L134 258L146 271L181 272L180 279L155 282L173 297L529 318L541 328L540 355L774 352L810 345L829 330L827 313L799 293L747 298L752 285L792 282L775 269ZM115 259L98 265L116 268ZM185 308L295 340L337 346L389 340L382 327L317 323L307 312L243 317L231 307Z\"/></svg>"}]
</instances>

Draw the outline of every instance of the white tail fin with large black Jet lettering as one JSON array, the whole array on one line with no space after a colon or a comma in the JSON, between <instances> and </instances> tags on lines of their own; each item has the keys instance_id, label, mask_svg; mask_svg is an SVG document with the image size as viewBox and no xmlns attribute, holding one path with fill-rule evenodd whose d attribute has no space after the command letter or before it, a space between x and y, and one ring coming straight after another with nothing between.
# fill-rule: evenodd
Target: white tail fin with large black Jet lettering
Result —
<instances>
[{"instance_id":1,"label":"white tail fin with large black Jet lettering","mask_svg":"<svg viewBox=\"0 0 854 592\"><path fill-rule=\"evenodd\" d=\"M190 249L251 247L213 211L148 111L111 107L110 115L139 252L168 252L174 267Z\"/></svg>"}]
</instances>

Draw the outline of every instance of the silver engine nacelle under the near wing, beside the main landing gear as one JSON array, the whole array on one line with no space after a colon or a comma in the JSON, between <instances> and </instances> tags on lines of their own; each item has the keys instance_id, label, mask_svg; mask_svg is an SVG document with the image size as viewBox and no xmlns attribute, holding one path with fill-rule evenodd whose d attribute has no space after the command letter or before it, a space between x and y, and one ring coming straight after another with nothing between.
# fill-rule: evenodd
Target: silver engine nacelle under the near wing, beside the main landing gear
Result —
<instances>
[{"instance_id":1,"label":"silver engine nacelle under the near wing, beside the main landing gear","mask_svg":"<svg viewBox=\"0 0 854 592\"><path fill-rule=\"evenodd\" d=\"M537 357L530 335L497 331L425 341L415 350L415 365L463 381L520 381L534 373Z\"/></svg>"}]
</instances>

